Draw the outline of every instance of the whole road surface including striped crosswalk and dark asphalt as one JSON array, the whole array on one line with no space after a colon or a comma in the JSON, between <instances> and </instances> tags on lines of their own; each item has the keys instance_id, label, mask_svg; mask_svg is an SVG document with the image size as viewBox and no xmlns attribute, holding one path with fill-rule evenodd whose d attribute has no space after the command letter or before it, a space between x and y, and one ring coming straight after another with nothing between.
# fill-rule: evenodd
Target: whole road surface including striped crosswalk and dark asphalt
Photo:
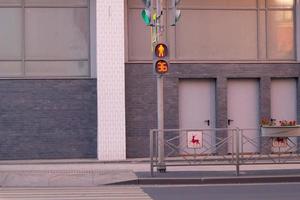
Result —
<instances>
[{"instance_id":1,"label":"whole road surface including striped crosswalk and dark asphalt","mask_svg":"<svg viewBox=\"0 0 300 200\"><path fill-rule=\"evenodd\" d=\"M0 200L298 200L300 183L1 188Z\"/></svg>"}]
</instances>

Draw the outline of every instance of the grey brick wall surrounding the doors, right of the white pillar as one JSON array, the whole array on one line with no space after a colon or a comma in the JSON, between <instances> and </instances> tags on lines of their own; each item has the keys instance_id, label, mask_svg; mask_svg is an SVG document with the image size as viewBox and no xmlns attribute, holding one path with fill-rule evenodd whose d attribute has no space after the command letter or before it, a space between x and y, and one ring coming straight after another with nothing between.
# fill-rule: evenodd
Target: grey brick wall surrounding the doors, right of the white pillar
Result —
<instances>
[{"instance_id":1,"label":"grey brick wall surrounding the doors, right of the white pillar","mask_svg":"<svg viewBox=\"0 0 300 200\"><path fill-rule=\"evenodd\" d=\"M300 99L300 64L172 64L165 78L165 128L178 128L178 80L212 78L216 80L216 125L227 125L227 80L260 80L260 117L270 117L272 78L297 78ZM149 156L149 130L156 128L156 79L151 64L126 64L127 157ZM298 104L298 121L300 105ZM220 137L222 137L220 135ZM224 149L226 151L226 149Z\"/></svg>"}]
</instances>

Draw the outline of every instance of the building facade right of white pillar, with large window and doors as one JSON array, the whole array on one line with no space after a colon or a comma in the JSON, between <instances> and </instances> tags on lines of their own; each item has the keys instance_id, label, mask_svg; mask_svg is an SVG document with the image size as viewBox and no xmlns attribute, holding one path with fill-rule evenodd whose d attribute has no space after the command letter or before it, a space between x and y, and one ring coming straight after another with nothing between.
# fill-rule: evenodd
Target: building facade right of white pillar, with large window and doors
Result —
<instances>
[{"instance_id":1,"label":"building facade right of white pillar, with large window and doors","mask_svg":"<svg viewBox=\"0 0 300 200\"><path fill-rule=\"evenodd\" d=\"M148 155L148 131L157 126L150 28L139 17L143 7L138 0L127 4L128 157ZM299 1L183 0L178 9L181 19L165 34L171 51L165 128L259 129L262 118L300 120Z\"/></svg>"}]
</instances>

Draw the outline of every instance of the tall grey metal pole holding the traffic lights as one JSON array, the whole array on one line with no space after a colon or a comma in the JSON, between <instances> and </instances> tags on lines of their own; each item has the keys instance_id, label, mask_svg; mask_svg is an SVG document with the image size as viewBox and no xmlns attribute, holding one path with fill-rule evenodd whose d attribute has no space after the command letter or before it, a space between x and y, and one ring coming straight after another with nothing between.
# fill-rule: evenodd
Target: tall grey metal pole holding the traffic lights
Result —
<instances>
[{"instance_id":1,"label":"tall grey metal pole holding the traffic lights","mask_svg":"<svg viewBox=\"0 0 300 200\"><path fill-rule=\"evenodd\" d=\"M163 0L156 0L156 16L157 20L155 27L156 37L158 42L164 42L164 37L160 37L161 27L163 25L163 6L161 5ZM166 26L163 27L165 31ZM157 128L158 128L158 166L157 170L159 172L166 172L165 164L165 146L164 146L164 76L158 74L156 78L157 82Z\"/></svg>"}]
</instances>

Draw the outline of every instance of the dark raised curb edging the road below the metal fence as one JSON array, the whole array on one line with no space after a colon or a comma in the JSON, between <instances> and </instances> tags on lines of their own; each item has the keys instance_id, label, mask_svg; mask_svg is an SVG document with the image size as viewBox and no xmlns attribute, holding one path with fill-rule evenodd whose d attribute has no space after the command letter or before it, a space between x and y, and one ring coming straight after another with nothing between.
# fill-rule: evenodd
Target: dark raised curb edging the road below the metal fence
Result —
<instances>
[{"instance_id":1,"label":"dark raised curb edging the road below the metal fence","mask_svg":"<svg viewBox=\"0 0 300 200\"><path fill-rule=\"evenodd\" d=\"M206 178L139 178L108 185L203 185L300 182L300 176L251 176Z\"/></svg>"}]
</instances>

